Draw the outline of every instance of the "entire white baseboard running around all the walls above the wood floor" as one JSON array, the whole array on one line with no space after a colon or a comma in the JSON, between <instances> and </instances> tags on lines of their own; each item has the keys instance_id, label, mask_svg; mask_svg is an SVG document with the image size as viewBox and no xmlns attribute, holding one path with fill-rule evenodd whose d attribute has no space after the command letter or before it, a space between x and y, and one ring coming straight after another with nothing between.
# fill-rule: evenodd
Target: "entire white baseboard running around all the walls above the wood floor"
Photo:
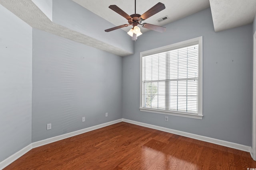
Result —
<instances>
[{"instance_id":1,"label":"entire white baseboard running around all the walls above the wood floor","mask_svg":"<svg viewBox=\"0 0 256 170\"><path fill-rule=\"evenodd\" d=\"M129 120L129 119L118 119L118 120L110 121L110 122L107 122L107 123L102 123L100 125L88 127L88 128L85 128L85 129L81 129L81 130L78 130L78 131L66 133L64 135L59 135L59 136L56 136L56 137L51 137L51 138L48 138L48 139L44 139L42 141L37 141L37 142L31 143L30 145L24 147L23 149L19 150L15 154L12 154L8 158L6 158L2 162L0 162L0 170L5 168L6 166L10 165L12 162L14 162L18 158L20 158L20 156L24 155L26 152L30 151L33 148L40 147L42 145L47 145L49 143L60 141L62 139L66 139L66 138L73 137L73 136L76 136L76 135L80 135L82 133L93 131L93 130L96 130L96 129L99 129L99 128L102 128L102 127L113 125L113 124L116 124L116 123L119 123L119 122L122 122L122 121L127 122L127 123L132 123L132 124L135 124L135 125L140 125L140 126L143 126L143 127L148 127L148 128L151 128L151 129L156 129L156 130L160 130L160 131L164 131L164 132L168 132L168 133L173 133L173 134L176 134L176 135L181 135L181 136L184 136L184 137L189 137L189 138L192 138L192 139L198 139L200 141L205 141L205 142L214 143L214 144L217 144L217 145L222 145L224 147L243 150L243 151L246 151L246 152L250 152L250 154L253 158L252 147L248 147L248 146L245 146L245 145L240 145L240 144L232 143L232 142L228 142L228 141L222 141L222 140L214 139L214 138L210 138L210 137L195 135L195 134L192 134L192 133L177 131L177 130L174 130L174 129L168 129L166 127L160 127L160 126L156 126L156 125L150 125L150 124L147 124L147 123L141 123L141 122L138 122L138 121L132 121L132 120Z\"/></svg>"}]
</instances>

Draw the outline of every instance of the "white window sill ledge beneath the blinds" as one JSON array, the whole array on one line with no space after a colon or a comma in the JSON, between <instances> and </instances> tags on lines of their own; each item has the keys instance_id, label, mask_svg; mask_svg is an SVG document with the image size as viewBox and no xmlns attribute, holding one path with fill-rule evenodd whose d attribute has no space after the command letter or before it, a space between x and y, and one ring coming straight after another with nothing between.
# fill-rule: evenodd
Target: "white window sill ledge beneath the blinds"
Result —
<instances>
[{"instance_id":1,"label":"white window sill ledge beneath the blinds","mask_svg":"<svg viewBox=\"0 0 256 170\"><path fill-rule=\"evenodd\" d=\"M159 114L164 114L164 115L173 115L173 116L180 116L180 117L189 117L193 119L203 119L203 115L195 115L195 114L189 114L189 113L175 113L175 112L170 112L170 111L165 111L165 110L156 110L156 109L148 109L148 108L141 108L140 111L146 111L146 112L151 112L151 113L159 113Z\"/></svg>"}]
</instances>

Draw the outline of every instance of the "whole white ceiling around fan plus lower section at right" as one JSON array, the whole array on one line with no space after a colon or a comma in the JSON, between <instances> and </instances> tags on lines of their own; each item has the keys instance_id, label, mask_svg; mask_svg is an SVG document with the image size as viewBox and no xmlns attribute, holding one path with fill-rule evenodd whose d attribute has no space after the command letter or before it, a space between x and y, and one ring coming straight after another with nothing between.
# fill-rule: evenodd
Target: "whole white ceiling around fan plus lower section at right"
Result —
<instances>
[{"instance_id":1,"label":"whole white ceiling around fan plus lower section at right","mask_svg":"<svg viewBox=\"0 0 256 170\"><path fill-rule=\"evenodd\" d=\"M117 5L128 15L135 12L134 0L73 1L116 26L128 22L125 18L108 8L108 6ZM210 7L215 31L222 31L252 23L256 14L256 0L137 0L136 13L143 14L159 1L165 5L166 9L148 18L143 23L162 26ZM164 16L168 16L168 19L161 22L157 21ZM124 27L122 29L128 32L131 27ZM143 33L149 30L142 28L141 31Z\"/></svg>"}]
</instances>

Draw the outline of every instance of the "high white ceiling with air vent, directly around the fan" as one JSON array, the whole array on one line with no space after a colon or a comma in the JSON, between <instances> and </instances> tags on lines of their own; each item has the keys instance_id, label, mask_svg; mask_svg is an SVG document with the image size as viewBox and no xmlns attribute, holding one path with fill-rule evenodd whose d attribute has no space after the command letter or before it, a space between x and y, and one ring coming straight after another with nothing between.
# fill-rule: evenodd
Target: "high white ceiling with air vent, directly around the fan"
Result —
<instances>
[{"instance_id":1,"label":"high white ceiling with air vent, directly around the fan","mask_svg":"<svg viewBox=\"0 0 256 170\"><path fill-rule=\"evenodd\" d=\"M128 15L132 15L135 12L134 0L73 0L80 4L84 8L104 18L105 20L113 23L114 25L123 25L128 23L125 18L112 11L108 6L117 5ZM143 23L151 23L154 25L165 25L172 21L179 20L201 10L210 7L209 0L137 0L136 1L136 13L143 14L149 10L152 6L158 2L162 2L165 5L165 9L155 14L154 16L143 21ZM99 5L100 4L100 5ZM158 22L157 20L168 16L169 19ZM132 26L122 28L126 32L131 29ZM108 29L103 26L103 29ZM141 28L141 32L149 31L149 29Z\"/></svg>"}]
</instances>

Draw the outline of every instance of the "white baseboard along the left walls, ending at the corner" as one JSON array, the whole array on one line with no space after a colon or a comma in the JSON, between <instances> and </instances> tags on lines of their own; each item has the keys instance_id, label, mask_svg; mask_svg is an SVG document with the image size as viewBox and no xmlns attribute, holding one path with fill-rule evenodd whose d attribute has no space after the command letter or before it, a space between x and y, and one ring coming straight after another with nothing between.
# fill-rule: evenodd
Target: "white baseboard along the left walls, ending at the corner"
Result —
<instances>
[{"instance_id":1,"label":"white baseboard along the left walls, ending at the corner","mask_svg":"<svg viewBox=\"0 0 256 170\"><path fill-rule=\"evenodd\" d=\"M66 133L64 135L59 135L59 136L56 136L56 137L51 137L51 138L48 138L48 139L44 139L42 141L37 141L37 142L31 143L30 145L24 147L23 149L19 150L15 154L12 154L8 158L6 158L2 162L0 162L0 170L5 168L6 166L10 165L12 162L14 162L18 158L20 158L20 156L26 154L26 152L30 151L33 148L40 147L42 145L46 145L46 144L53 143L53 142L56 142L56 141L60 141L62 139L66 139L66 138L73 137L73 136L76 136L76 135L80 135L82 133L86 133L86 132L93 131L93 130L96 130L96 129L100 129L102 127L113 125L113 124L116 124L116 123L119 123L119 122L122 122L122 119L110 121L110 122L107 122L107 123L102 123L100 125L88 127L88 128L81 129L81 130L78 130L78 131Z\"/></svg>"}]
</instances>

